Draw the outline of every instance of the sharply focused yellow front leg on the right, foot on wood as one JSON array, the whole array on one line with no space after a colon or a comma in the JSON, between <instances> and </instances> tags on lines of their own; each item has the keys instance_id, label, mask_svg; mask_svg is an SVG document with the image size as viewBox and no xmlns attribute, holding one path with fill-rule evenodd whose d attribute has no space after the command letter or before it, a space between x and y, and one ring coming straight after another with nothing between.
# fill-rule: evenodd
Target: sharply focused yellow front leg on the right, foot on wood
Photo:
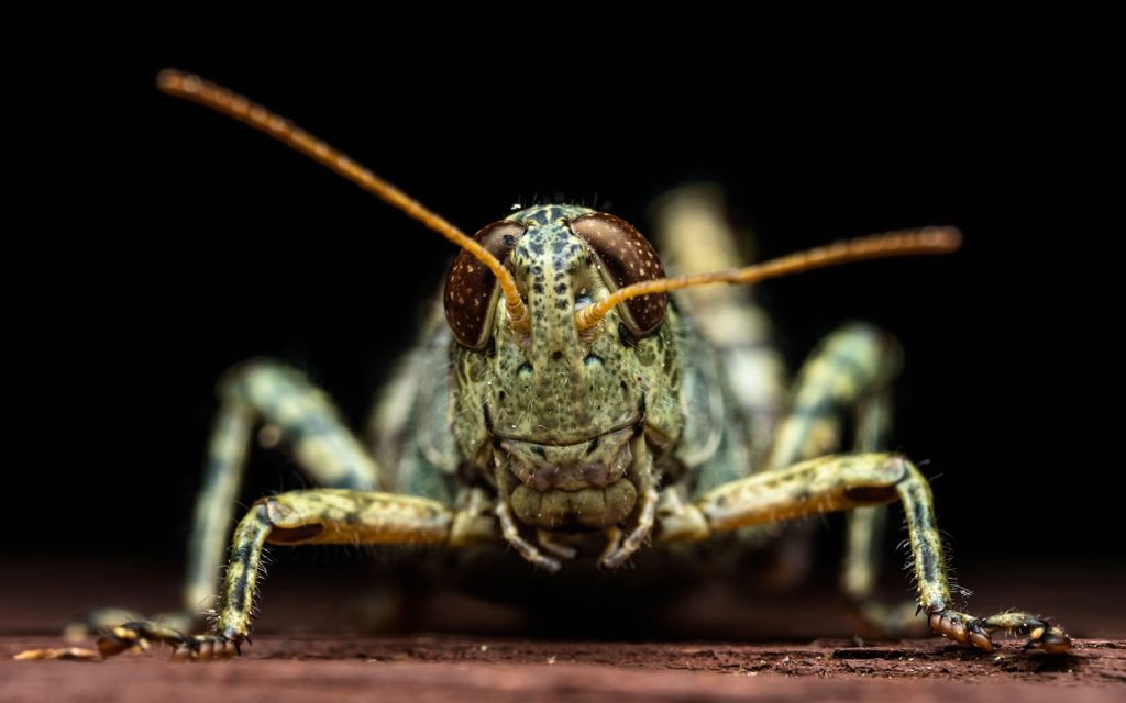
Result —
<instances>
[{"instance_id":1,"label":"sharply focused yellow front leg on the right, foot on wood","mask_svg":"<svg viewBox=\"0 0 1126 703\"><path fill-rule=\"evenodd\" d=\"M903 503L906 516L918 606L926 612L935 632L985 651L993 649L990 634L997 630L1026 636L1029 646L1047 651L1070 649L1067 633L1036 615L1008 612L974 618L951 609L930 486L919 469L901 456L868 453L803 461L778 471L731 481L685 508L698 511L707 532L714 533L882 505L896 497Z\"/></svg>"}]
</instances>

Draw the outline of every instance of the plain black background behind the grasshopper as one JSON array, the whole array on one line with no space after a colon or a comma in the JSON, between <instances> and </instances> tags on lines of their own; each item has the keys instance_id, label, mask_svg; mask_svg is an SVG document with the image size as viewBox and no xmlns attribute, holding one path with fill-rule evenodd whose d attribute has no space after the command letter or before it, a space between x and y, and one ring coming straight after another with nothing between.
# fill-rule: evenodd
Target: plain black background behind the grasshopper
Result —
<instances>
[{"instance_id":1,"label":"plain black background behind the grasshopper","mask_svg":"<svg viewBox=\"0 0 1126 703\"><path fill-rule=\"evenodd\" d=\"M176 66L468 231L556 195L644 228L646 202L694 180L723 184L763 256L959 226L954 256L765 285L784 350L796 364L851 318L900 336L897 449L928 461L956 558L1120 562L1105 484L1117 412L1088 397L1120 397L1099 265L1117 235L1099 211L1120 201L1102 175L1103 45L1051 6L645 11L180 3L43 19L20 71L32 88L10 106L32 120L12 144L32 156L15 202L30 217L6 258L11 443L28 450L9 475L28 499L3 549L176 558L218 375L289 360L358 424L454 254L306 159L158 93ZM301 479L259 456L250 484L248 503Z\"/></svg>"}]
</instances>

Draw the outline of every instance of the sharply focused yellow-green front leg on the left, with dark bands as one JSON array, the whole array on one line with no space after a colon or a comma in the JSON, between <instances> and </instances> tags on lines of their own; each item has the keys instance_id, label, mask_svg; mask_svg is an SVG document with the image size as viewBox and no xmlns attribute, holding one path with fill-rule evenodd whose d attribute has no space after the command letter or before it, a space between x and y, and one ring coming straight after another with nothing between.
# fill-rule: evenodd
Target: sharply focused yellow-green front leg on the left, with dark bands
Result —
<instances>
[{"instance_id":1,"label":"sharply focused yellow-green front leg on the left, with dark bands","mask_svg":"<svg viewBox=\"0 0 1126 703\"><path fill-rule=\"evenodd\" d=\"M98 649L108 657L163 642L175 659L231 657L250 640L265 544L447 544L457 517L436 501L390 493L323 488L263 498L235 529L212 634L131 622L99 639Z\"/></svg>"}]
</instances>

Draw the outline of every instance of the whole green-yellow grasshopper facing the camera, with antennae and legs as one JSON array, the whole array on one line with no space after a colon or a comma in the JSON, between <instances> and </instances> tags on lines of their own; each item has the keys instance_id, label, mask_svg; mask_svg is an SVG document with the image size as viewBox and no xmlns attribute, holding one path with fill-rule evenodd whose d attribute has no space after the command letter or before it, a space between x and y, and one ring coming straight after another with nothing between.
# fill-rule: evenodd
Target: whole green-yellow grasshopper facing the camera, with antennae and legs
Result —
<instances>
[{"instance_id":1,"label":"whole green-yellow grasshopper facing the camera, with antennae and legs","mask_svg":"<svg viewBox=\"0 0 1126 703\"><path fill-rule=\"evenodd\" d=\"M446 279L445 321L429 323L373 414L373 449L297 370L256 361L225 376L181 620L212 596L256 427L287 442L324 487L262 498L239 521L209 633L135 620L99 640L101 656L149 641L172 646L178 659L236 654L250 640L268 543L501 546L502 558L525 560L538 577L564 566L643 568L654 552L723 533L762 541L774 523L829 511L850 511L843 588L878 630L901 631L922 613L933 632L986 651L997 631L1048 651L1071 647L1039 616L978 618L955 605L927 479L906 457L881 451L895 341L848 325L787 388L769 324L745 288L850 261L947 253L960 241L953 227L747 265L714 197L685 190L664 204L662 250L686 269L733 268L668 277L653 245L614 215L538 205L471 237L245 98L176 71L159 85L276 137L462 251ZM854 452L833 453L846 418ZM918 592L905 609L874 595L885 508L896 501Z\"/></svg>"}]
</instances>

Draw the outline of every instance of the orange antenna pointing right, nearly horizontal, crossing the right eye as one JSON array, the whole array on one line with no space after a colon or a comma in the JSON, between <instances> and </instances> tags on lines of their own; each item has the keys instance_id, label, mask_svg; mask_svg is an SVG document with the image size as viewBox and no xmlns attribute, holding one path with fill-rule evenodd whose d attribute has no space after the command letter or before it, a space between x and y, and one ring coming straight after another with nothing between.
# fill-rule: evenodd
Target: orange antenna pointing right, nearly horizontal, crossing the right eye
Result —
<instances>
[{"instance_id":1,"label":"orange antenna pointing right, nearly horizontal, crossing the right eye","mask_svg":"<svg viewBox=\"0 0 1126 703\"><path fill-rule=\"evenodd\" d=\"M614 309L614 306L653 294L707 286L709 283L756 283L768 278L778 278L813 269L834 267L851 261L865 259L883 259L885 256L910 256L914 254L947 254L962 245L962 233L954 227L923 227L922 229L903 229L874 236L861 237L848 242L839 242L829 246L820 246L808 251L789 254L772 261L765 261L745 269L713 271L711 273L688 273L673 278L659 278L626 286L610 296L575 313L575 325L580 332L590 330Z\"/></svg>"}]
</instances>

